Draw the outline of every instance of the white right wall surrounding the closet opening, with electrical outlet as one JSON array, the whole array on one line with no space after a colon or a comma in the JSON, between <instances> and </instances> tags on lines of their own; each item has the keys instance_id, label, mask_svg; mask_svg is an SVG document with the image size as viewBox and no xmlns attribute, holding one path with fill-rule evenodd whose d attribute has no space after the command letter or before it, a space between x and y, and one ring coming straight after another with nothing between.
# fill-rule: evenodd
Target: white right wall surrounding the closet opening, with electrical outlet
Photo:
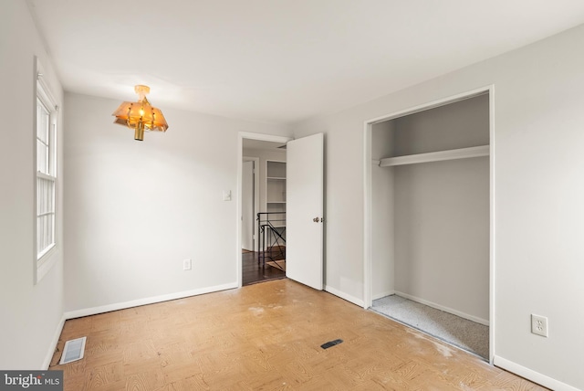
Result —
<instances>
[{"instance_id":1,"label":"white right wall surrounding the closet opening, with electrical outlet","mask_svg":"<svg viewBox=\"0 0 584 391\"><path fill-rule=\"evenodd\" d=\"M363 123L495 86L495 364L584 388L584 26L347 111L298 124L326 132L327 285L363 298ZM547 316L549 337L530 333ZM556 382L556 383L554 383Z\"/></svg>"}]
</instances>

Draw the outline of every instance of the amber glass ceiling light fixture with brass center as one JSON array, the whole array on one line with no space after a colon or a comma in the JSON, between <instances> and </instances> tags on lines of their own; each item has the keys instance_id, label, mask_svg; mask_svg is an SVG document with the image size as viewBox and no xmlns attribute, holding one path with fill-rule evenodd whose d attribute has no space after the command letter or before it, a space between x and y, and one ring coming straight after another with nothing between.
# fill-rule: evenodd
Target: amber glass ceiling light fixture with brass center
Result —
<instances>
[{"instance_id":1,"label":"amber glass ceiling light fixture with brass center","mask_svg":"<svg viewBox=\"0 0 584 391\"><path fill-rule=\"evenodd\" d=\"M120 125L128 126L134 130L134 140L143 141L144 131L147 132L166 132L168 124L162 115L162 111L151 106L146 99L146 94L150 92L148 86L135 86L134 91L138 94L138 101L124 101L120 104L118 110L113 114Z\"/></svg>"}]
</instances>

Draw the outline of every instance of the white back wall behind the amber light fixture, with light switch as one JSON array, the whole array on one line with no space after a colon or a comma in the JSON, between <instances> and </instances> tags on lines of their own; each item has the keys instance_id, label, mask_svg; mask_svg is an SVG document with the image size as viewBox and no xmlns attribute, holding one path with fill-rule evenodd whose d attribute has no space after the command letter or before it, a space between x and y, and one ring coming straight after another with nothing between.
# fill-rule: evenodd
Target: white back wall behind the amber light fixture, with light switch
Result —
<instances>
[{"instance_id":1,"label":"white back wall behind the amber light fixture, with light switch","mask_svg":"<svg viewBox=\"0 0 584 391\"><path fill-rule=\"evenodd\" d=\"M238 132L286 130L162 108L137 142L119 104L66 94L66 311L237 286Z\"/></svg>"}]
</instances>

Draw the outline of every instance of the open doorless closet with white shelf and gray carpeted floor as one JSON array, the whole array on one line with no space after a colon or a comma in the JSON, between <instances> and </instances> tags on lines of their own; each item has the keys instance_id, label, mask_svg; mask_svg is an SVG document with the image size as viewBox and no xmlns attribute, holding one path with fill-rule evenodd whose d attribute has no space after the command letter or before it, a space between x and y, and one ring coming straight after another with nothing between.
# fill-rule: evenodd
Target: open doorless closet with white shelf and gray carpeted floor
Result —
<instances>
[{"instance_id":1,"label":"open doorless closet with white shelf and gray carpeted floor","mask_svg":"<svg viewBox=\"0 0 584 391\"><path fill-rule=\"evenodd\" d=\"M367 123L365 307L493 356L490 89Z\"/></svg>"}]
</instances>

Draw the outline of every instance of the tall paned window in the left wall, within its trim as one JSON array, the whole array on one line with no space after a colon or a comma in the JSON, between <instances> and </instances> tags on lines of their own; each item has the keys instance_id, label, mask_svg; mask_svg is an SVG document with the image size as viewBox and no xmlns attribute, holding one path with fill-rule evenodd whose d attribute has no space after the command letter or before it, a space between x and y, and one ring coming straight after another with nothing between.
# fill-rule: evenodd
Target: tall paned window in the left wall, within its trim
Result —
<instances>
[{"instance_id":1,"label":"tall paned window in the left wall, within its trim","mask_svg":"<svg viewBox=\"0 0 584 391\"><path fill-rule=\"evenodd\" d=\"M57 106L39 78L36 82L36 267L56 246ZM44 273L43 273L44 274ZM40 280L38 276L36 280Z\"/></svg>"}]
</instances>

